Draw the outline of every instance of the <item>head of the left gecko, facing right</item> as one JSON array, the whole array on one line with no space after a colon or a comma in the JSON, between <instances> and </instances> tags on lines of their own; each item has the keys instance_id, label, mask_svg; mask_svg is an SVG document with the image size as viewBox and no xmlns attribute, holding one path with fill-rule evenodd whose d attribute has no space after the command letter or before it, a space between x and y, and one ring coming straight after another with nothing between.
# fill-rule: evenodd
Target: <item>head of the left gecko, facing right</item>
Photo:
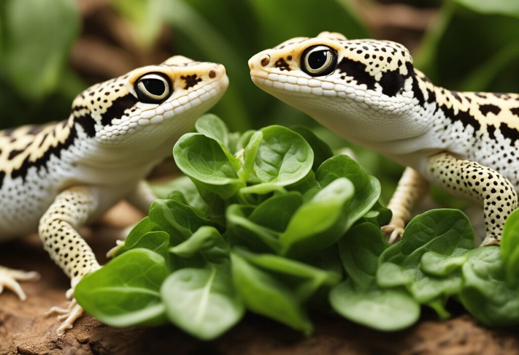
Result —
<instances>
[{"instance_id":1,"label":"head of the left gecko, facing right","mask_svg":"<svg viewBox=\"0 0 519 355\"><path fill-rule=\"evenodd\" d=\"M227 85L223 65L176 55L88 88L70 119L102 145L153 149L189 131Z\"/></svg>"}]
</instances>

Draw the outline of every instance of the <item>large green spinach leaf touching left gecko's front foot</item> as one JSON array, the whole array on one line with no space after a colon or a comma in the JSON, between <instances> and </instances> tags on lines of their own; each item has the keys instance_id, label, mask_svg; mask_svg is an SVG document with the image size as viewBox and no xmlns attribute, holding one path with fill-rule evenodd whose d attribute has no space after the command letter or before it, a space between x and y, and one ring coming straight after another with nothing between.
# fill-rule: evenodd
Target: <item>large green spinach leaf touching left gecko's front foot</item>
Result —
<instances>
[{"instance_id":1,"label":"large green spinach leaf touching left gecko's front foot","mask_svg":"<svg viewBox=\"0 0 519 355\"><path fill-rule=\"evenodd\" d=\"M74 296L89 314L112 326L166 322L160 286L169 274L165 259L132 249L79 281Z\"/></svg>"}]
</instances>

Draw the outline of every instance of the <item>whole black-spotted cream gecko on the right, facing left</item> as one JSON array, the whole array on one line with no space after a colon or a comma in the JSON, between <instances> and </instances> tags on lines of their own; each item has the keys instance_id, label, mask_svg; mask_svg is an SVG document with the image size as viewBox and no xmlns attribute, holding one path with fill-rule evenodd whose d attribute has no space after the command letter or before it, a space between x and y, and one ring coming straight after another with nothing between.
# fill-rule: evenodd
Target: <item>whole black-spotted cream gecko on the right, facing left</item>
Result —
<instances>
[{"instance_id":1,"label":"whole black-spotted cream gecko on the right, facing left","mask_svg":"<svg viewBox=\"0 0 519 355\"><path fill-rule=\"evenodd\" d=\"M384 230L393 239L418 200L413 187L425 190L430 181L480 202L483 244L499 244L503 223L517 207L519 94L436 87L401 44L329 32L264 50L249 67L261 89L417 172L407 172L390 203L396 213Z\"/></svg>"}]
</instances>

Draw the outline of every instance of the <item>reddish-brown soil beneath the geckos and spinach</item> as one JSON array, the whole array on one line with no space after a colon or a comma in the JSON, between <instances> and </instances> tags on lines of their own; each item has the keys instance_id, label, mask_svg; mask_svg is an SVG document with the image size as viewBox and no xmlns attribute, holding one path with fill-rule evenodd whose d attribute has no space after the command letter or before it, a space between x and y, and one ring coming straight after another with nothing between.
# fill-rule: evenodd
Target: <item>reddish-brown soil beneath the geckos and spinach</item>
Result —
<instances>
[{"instance_id":1,"label":"reddish-brown soil beneath the geckos and spinach","mask_svg":"<svg viewBox=\"0 0 519 355\"><path fill-rule=\"evenodd\" d=\"M121 222L121 217L125 221ZM139 218L127 207L117 207L89 236L101 262L114 245L117 224ZM93 236L96 236L95 238ZM28 300L11 292L0 296L0 354L519 354L517 330L488 330L468 315L436 321L426 314L413 328L380 333L345 319L316 315L316 333L304 337L285 326L248 315L233 330L214 342L203 343L174 326L118 329L90 316L79 319L64 336L56 335L58 321L47 317L51 306L65 306L69 280L43 251L37 236L0 246L1 264L37 270L38 282L24 283ZM514 334L515 333L515 334Z\"/></svg>"}]
</instances>

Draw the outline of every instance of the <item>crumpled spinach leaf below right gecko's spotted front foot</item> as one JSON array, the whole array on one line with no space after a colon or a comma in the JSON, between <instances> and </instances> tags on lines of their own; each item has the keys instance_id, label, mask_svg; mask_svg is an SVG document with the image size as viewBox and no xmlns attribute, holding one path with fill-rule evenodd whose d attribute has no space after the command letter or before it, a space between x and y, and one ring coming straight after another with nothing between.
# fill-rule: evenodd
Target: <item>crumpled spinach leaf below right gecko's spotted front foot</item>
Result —
<instances>
[{"instance_id":1,"label":"crumpled spinach leaf below right gecko's spotted front foot","mask_svg":"<svg viewBox=\"0 0 519 355\"><path fill-rule=\"evenodd\" d=\"M519 289L506 281L501 251L497 246L474 249L463 265L463 306L488 326L519 323Z\"/></svg>"}]
</instances>

